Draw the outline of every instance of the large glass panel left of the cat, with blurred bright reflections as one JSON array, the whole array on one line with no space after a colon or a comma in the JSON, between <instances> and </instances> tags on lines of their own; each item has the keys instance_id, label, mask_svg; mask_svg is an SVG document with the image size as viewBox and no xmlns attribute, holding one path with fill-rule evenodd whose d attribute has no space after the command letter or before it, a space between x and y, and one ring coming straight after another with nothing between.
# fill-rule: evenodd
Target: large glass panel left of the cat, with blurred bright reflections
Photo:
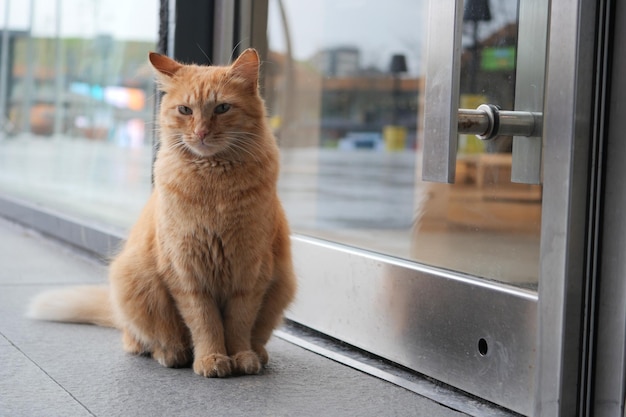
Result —
<instances>
[{"instance_id":1,"label":"large glass panel left of the cat, with blurred bright reflections","mask_svg":"<svg viewBox=\"0 0 626 417\"><path fill-rule=\"evenodd\" d=\"M151 188L158 7L0 1L0 193L133 223Z\"/></svg>"}]
</instances>

